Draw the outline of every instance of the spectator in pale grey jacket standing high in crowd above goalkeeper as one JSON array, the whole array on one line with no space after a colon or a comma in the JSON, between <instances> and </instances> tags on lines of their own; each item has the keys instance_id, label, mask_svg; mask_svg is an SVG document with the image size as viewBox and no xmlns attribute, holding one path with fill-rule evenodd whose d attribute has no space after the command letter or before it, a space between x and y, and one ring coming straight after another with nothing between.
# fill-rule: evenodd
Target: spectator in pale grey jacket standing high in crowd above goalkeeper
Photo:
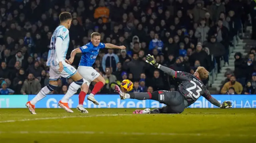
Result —
<instances>
[{"instance_id":1,"label":"spectator in pale grey jacket standing high in crowd above goalkeeper","mask_svg":"<svg viewBox=\"0 0 256 143\"><path fill-rule=\"evenodd\" d=\"M202 19L199 24L200 26L196 28L195 37L198 38L198 42L200 43L207 41L208 31L210 30L205 23L205 19Z\"/></svg>"}]
</instances>

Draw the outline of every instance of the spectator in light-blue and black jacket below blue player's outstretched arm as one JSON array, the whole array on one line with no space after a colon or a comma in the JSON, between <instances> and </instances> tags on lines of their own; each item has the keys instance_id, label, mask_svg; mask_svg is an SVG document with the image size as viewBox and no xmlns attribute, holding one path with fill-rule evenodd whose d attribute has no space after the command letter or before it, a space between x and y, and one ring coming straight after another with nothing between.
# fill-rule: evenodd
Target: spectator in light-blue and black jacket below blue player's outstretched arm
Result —
<instances>
[{"instance_id":1,"label":"spectator in light-blue and black jacket below blue player's outstretched arm","mask_svg":"<svg viewBox=\"0 0 256 143\"><path fill-rule=\"evenodd\" d=\"M119 62L119 58L113 52L113 49L108 49L108 53L102 58L102 68L104 72L106 72L106 67L111 67L113 69L113 72L117 70L116 64Z\"/></svg>"}]
</instances>

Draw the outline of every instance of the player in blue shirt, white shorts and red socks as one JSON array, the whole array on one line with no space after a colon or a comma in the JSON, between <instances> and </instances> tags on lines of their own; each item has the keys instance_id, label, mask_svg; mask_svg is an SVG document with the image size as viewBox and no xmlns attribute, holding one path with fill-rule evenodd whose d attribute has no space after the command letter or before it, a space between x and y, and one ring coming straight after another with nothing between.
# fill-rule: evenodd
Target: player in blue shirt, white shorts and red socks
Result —
<instances>
[{"instance_id":1,"label":"player in blue shirt, white shorts and red socks","mask_svg":"<svg viewBox=\"0 0 256 143\"><path fill-rule=\"evenodd\" d=\"M90 83L92 81L96 82L91 94L87 97L87 100L92 101L94 104L99 105L99 103L95 100L94 96L96 93L100 91L100 89L105 85L105 79L95 70L92 68L96 57L99 54L100 49L103 48L110 48L110 49L126 49L124 46L116 46L110 43L100 43L100 33L94 32L91 35L91 42L87 43L86 45L76 48L71 52L71 57L68 60L70 64L73 63L74 57L76 53L82 53L82 57L79 63L78 72L84 78L84 84L81 88L81 92L79 94L79 104L77 109L83 113L84 107L84 99L88 92Z\"/></svg>"}]
</instances>

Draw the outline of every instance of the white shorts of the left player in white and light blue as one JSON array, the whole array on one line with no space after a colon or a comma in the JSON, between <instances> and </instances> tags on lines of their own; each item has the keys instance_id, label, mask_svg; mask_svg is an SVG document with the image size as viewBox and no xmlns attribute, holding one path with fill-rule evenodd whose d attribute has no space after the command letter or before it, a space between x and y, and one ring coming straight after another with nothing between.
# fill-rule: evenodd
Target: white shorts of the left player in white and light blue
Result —
<instances>
[{"instance_id":1,"label":"white shorts of the left player in white and light blue","mask_svg":"<svg viewBox=\"0 0 256 143\"><path fill-rule=\"evenodd\" d=\"M67 63L63 63L63 70L62 72L59 72L59 66L50 66L50 71L49 71L49 75L50 78L49 80L58 80L59 78L64 77L64 78L70 78L72 75L74 75L77 71L76 69L67 64Z\"/></svg>"}]
</instances>

